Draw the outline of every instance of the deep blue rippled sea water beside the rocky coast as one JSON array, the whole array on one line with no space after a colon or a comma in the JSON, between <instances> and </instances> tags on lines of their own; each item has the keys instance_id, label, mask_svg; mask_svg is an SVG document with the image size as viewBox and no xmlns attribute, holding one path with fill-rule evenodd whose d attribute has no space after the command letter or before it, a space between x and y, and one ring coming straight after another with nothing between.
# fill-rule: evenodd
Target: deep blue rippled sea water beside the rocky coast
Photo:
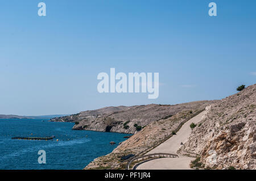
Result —
<instances>
[{"instance_id":1,"label":"deep blue rippled sea water beside the rocky coast","mask_svg":"<svg viewBox=\"0 0 256 181\"><path fill-rule=\"evenodd\" d=\"M110 153L129 135L74 131L73 125L35 119L0 119L0 169L83 169L94 158ZM18 136L55 138L53 141L11 139ZM110 141L117 144L110 145ZM38 163L39 150L46 151L46 164Z\"/></svg>"}]
</instances>

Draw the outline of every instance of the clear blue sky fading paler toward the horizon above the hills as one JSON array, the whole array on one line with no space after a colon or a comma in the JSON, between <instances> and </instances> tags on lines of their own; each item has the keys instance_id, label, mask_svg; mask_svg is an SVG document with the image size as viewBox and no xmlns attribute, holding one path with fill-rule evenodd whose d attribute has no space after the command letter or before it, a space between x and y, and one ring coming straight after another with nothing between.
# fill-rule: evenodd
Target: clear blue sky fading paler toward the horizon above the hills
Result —
<instances>
[{"instance_id":1,"label":"clear blue sky fading paler toward the horizon above the hills","mask_svg":"<svg viewBox=\"0 0 256 181\"><path fill-rule=\"evenodd\" d=\"M256 83L255 8L255 0L1 1L0 114L225 98ZM98 93L97 75L110 68L158 72L159 98Z\"/></svg>"}]
</instances>

